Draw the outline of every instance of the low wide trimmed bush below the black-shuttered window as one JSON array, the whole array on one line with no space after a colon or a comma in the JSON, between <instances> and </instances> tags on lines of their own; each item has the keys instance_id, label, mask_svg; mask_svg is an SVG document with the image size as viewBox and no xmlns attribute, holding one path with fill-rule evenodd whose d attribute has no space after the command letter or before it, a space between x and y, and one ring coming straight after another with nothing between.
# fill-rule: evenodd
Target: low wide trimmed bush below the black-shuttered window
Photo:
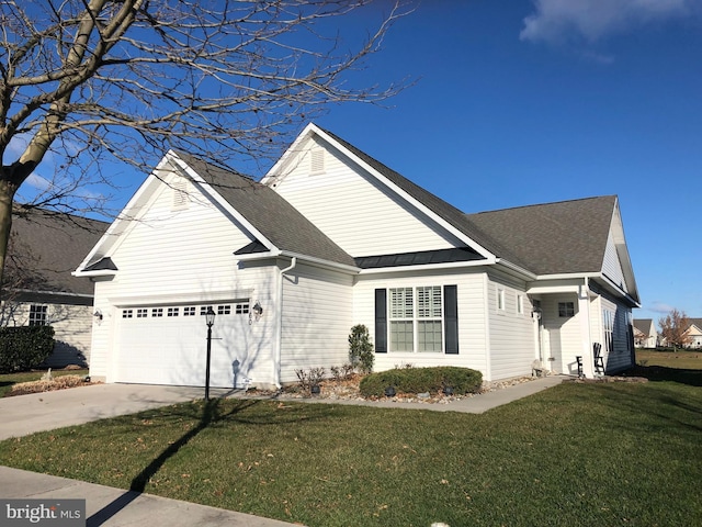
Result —
<instances>
[{"instance_id":1,"label":"low wide trimmed bush below the black-shuttered window","mask_svg":"<svg viewBox=\"0 0 702 527\"><path fill-rule=\"evenodd\" d=\"M435 368L395 368L371 373L361 380L361 393L366 397L380 397L387 386L398 393L435 393L451 386L453 393L462 395L477 393L483 385L483 373L469 368L442 366Z\"/></svg>"}]
</instances>

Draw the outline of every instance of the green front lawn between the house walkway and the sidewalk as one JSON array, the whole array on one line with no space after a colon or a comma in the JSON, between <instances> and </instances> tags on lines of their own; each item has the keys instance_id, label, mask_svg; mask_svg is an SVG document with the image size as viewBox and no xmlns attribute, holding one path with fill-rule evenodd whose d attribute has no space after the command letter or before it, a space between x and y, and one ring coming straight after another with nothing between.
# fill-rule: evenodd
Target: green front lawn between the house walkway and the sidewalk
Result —
<instances>
[{"instance_id":1,"label":"green front lawn between the house walkway and the sidewalk","mask_svg":"<svg viewBox=\"0 0 702 527\"><path fill-rule=\"evenodd\" d=\"M483 415L199 401L2 441L0 463L308 526L702 525L697 375Z\"/></svg>"}]
</instances>

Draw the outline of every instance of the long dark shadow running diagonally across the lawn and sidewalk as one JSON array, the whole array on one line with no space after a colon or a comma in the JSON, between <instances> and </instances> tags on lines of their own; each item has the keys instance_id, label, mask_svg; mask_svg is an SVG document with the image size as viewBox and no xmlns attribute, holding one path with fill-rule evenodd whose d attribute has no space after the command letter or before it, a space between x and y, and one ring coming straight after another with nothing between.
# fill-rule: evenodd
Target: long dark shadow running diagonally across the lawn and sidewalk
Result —
<instances>
[{"instance_id":1,"label":"long dark shadow running diagonally across the lawn and sidewalk","mask_svg":"<svg viewBox=\"0 0 702 527\"><path fill-rule=\"evenodd\" d=\"M233 405L231 410L226 413L220 412L222 402L223 400L220 399L214 399L204 402L202 415L197 425L191 428L188 433L183 434L183 436L181 436L178 440L170 444L168 448L166 448L166 450L163 450L156 459L154 459L147 467L145 467L144 470L141 470L136 476L134 476L128 491L126 491L112 503L109 503L103 508L87 518L87 527L97 527L104 524L120 511L123 511L132 502L134 502L145 491L149 480L158 473L163 464L166 464L166 462L170 458L176 456L181 448L188 445L201 431L208 428L210 426L216 425L218 422L228 419L236 414L245 412L247 408L259 404L261 401L239 401L238 404ZM257 422L257 424L264 423Z\"/></svg>"}]
</instances>

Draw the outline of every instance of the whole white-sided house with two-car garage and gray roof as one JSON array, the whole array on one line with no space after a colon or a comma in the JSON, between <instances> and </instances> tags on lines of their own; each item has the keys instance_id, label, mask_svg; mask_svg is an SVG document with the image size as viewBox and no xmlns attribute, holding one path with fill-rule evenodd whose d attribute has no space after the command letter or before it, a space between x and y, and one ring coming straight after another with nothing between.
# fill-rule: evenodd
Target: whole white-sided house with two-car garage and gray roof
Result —
<instances>
[{"instance_id":1,"label":"whole white-sided house with two-car garage and gray roof","mask_svg":"<svg viewBox=\"0 0 702 527\"><path fill-rule=\"evenodd\" d=\"M75 272L95 283L91 375L281 385L348 361L595 375L633 365L638 293L615 197L464 214L310 124L261 182L169 152ZM254 310L256 307L256 310ZM258 310L258 307L262 309Z\"/></svg>"}]
</instances>

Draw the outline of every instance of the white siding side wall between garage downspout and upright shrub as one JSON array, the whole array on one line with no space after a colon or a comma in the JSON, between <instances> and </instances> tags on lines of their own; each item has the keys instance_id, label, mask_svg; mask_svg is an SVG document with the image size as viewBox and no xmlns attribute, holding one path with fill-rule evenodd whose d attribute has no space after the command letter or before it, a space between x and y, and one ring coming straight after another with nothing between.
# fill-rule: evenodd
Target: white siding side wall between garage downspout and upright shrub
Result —
<instances>
[{"instance_id":1,"label":"white siding side wall between garage downspout and upright shrub","mask_svg":"<svg viewBox=\"0 0 702 527\"><path fill-rule=\"evenodd\" d=\"M298 264L283 278L281 381L297 381L296 369L349 361L353 278Z\"/></svg>"}]
</instances>

